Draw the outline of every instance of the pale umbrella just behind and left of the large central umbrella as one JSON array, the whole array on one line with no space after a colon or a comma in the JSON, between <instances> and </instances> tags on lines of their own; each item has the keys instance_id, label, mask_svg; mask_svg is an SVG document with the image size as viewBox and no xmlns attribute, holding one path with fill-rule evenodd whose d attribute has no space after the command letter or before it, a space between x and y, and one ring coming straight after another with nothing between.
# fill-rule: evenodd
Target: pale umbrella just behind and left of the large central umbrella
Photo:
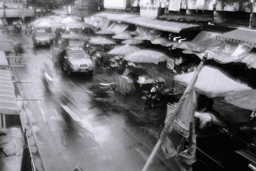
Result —
<instances>
[{"instance_id":1,"label":"pale umbrella just behind and left of the large central umbrella","mask_svg":"<svg viewBox=\"0 0 256 171\"><path fill-rule=\"evenodd\" d=\"M133 52L138 52L140 50L141 50L141 48L138 48L138 47L123 45L123 46L113 48L112 50L110 50L108 52L108 54L124 55L125 56L125 55L128 55L128 54L132 54Z\"/></svg>"}]
</instances>

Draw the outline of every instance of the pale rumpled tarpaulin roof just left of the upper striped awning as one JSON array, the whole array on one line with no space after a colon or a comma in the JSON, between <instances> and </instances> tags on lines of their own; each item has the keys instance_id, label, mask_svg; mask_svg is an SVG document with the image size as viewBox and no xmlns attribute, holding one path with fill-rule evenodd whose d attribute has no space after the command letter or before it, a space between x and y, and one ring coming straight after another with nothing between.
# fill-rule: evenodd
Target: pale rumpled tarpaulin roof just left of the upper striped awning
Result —
<instances>
[{"instance_id":1,"label":"pale rumpled tarpaulin roof just left of the upper striped awning","mask_svg":"<svg viewBox=\"0 0 256 171\"><path fill-rule=\"evenodd\" d=\"M221 41L216 40L219 33L210 31L201 31L192 41L183 41L182 43L175 43L173 47L184 50L192 50L195 52L203 52L207 48L220 47Z\"/></svg>"}]
</instances>

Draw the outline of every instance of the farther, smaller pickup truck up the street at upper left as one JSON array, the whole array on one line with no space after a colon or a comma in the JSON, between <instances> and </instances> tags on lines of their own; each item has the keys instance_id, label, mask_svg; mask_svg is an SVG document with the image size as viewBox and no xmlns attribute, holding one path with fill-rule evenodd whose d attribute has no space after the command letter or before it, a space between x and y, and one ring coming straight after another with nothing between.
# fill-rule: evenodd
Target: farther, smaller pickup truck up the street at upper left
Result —
<instances>
[{"instance_id":1,"label":"farther, smaller pickup truck up the street at upper left","mask_svg":"<svg viewBox=\"0 0 256 171\"><path fill-rule=\"evenodd\" d=\"M51 45L51 37L44 30L36 30L33 34L34 46Z\"/></svg>"}]
</instances>

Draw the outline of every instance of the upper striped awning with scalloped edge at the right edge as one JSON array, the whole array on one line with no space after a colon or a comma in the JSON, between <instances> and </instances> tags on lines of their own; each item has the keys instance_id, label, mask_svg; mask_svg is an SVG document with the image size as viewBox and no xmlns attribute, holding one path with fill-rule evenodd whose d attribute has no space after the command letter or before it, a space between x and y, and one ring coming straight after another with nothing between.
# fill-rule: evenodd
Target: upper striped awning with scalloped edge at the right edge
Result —
<instances>
[{"instance_id":1,"label":"upper striped awning with scalloped edge at the right edge","mask_svg":"<svg viewBox=\"0 0 256 171\"><path fill-rule=\"evenodd\" d=\"M232 41L256 47L256 31L250 29L236 29L216 36L219 41Z\"/></svg>"}]
</instances>

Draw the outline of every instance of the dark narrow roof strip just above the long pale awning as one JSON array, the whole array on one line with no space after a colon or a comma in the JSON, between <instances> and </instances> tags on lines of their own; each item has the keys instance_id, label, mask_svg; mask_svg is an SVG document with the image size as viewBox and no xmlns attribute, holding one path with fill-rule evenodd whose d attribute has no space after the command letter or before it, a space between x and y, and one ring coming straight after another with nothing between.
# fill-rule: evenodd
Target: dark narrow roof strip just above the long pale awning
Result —
<instances>
[{"instance_id":1,"label":"dark narrow roof strip just above the long pale awning","mask_svg":"<svg viewBox=\"0 0 256 171\"><path fill-rule=\"evenodd\" d=\"M164 14L159 17L159 19L166 20L177 20L177 21L187 21L187 22L209 22L212 21L212 17L209 15L179 15L179 14Z\"/></svg>"}]
</instances>

